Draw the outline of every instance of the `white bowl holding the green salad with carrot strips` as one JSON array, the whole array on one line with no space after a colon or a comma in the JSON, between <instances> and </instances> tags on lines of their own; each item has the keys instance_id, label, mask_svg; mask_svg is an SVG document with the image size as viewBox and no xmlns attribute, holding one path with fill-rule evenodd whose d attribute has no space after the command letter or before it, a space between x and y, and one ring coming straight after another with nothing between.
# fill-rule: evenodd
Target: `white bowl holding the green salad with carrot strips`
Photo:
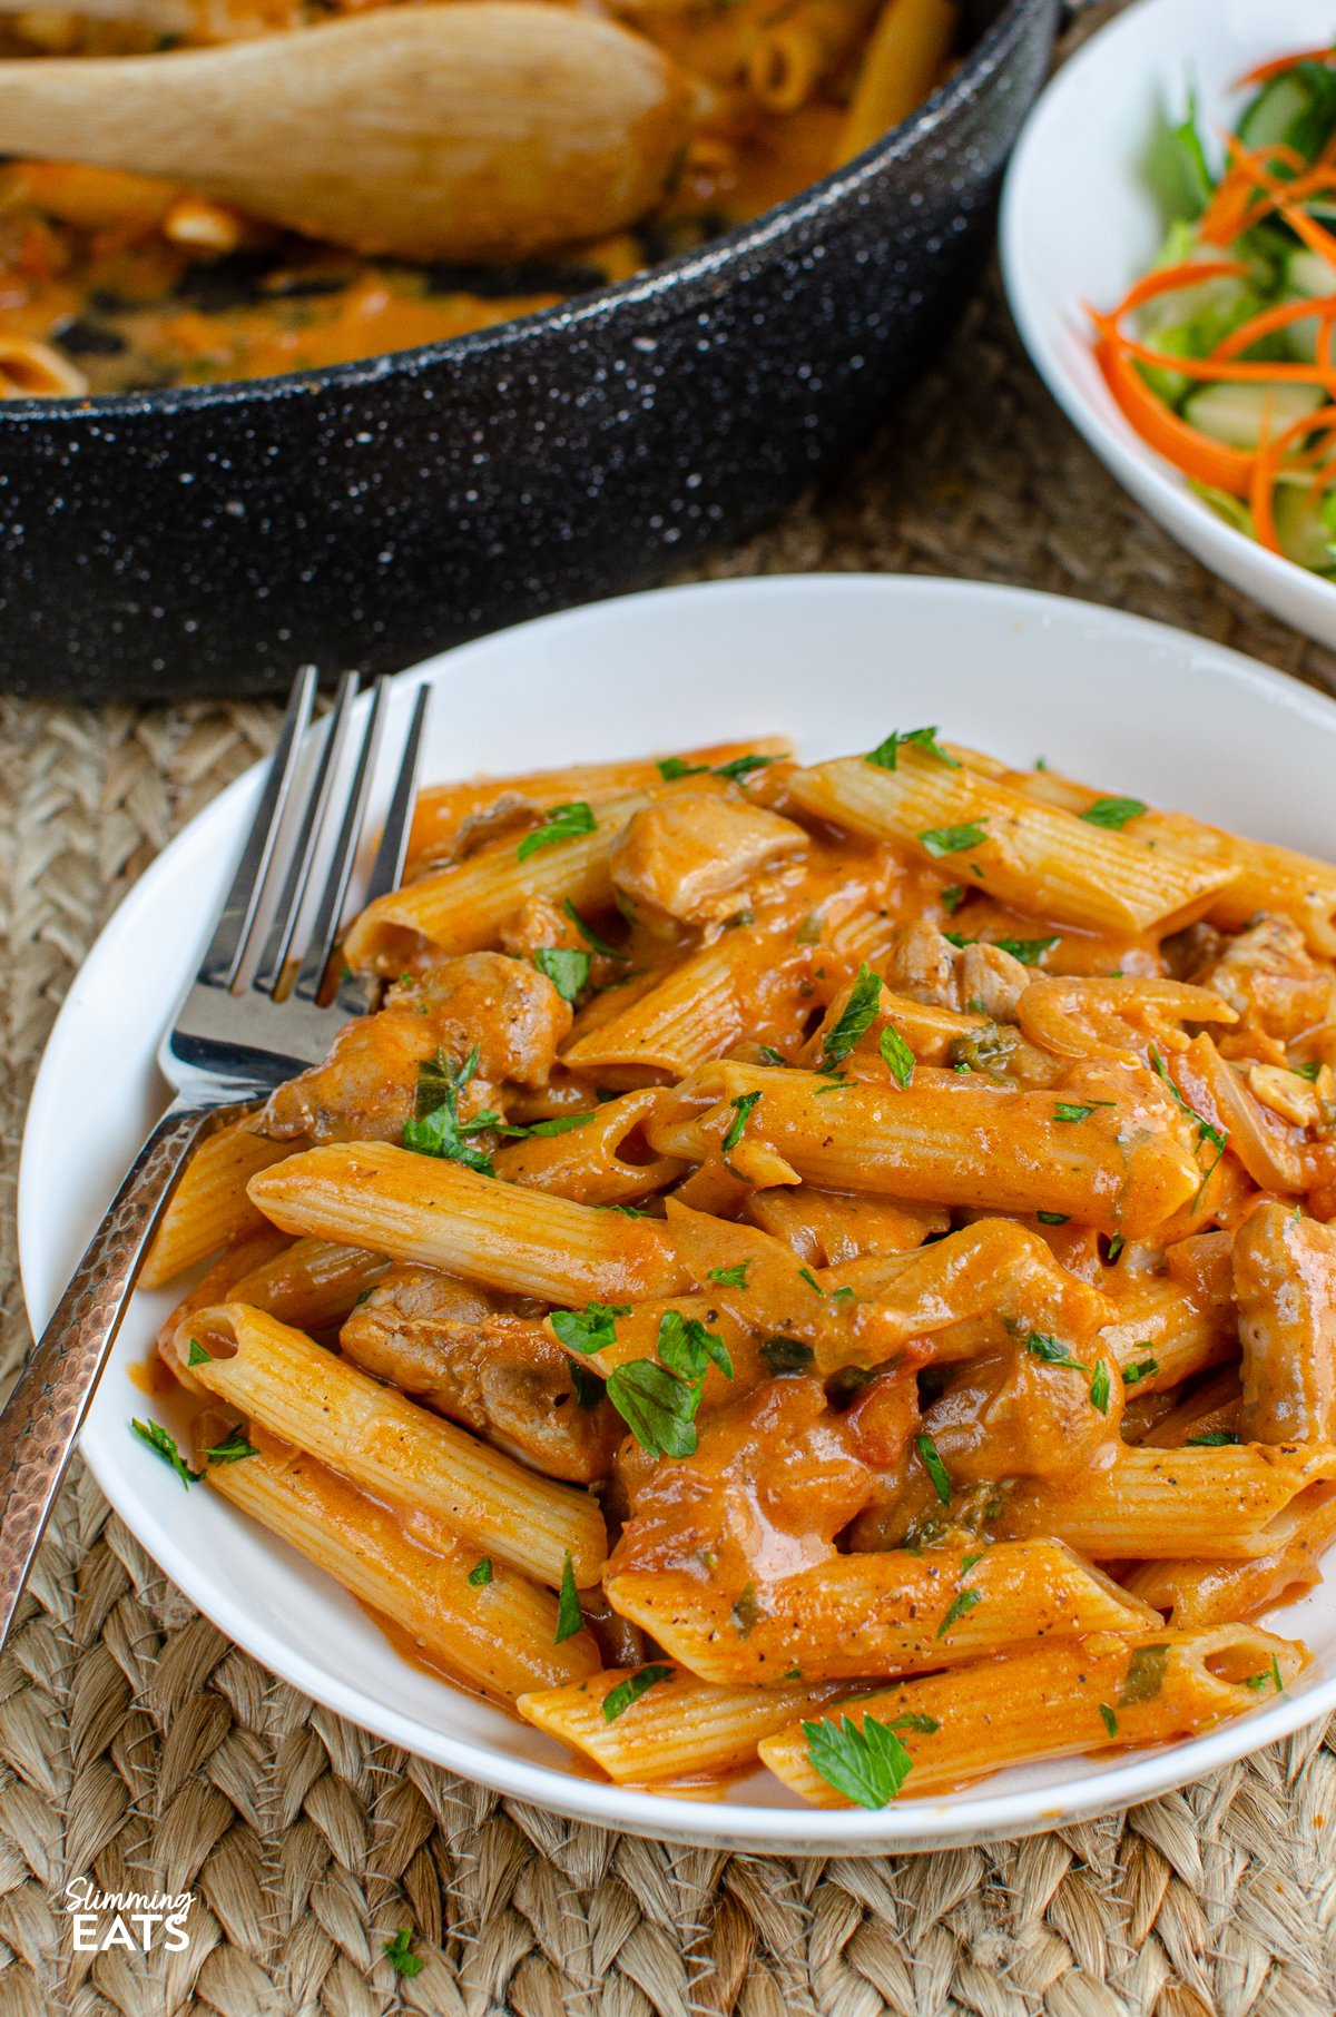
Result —
<instances>
[{"instance_id":1,"label":"white bowl holding the green salad with carrot strips","mask_svg":"<svg viewBox=\"0 0 1336 2017\"><path fill-rule=\"evenodd\" d=\"M1334 32L1330 0L1140 0L1064 65L1007 169L1007 299L1049 391L1100 460L1189 553L1296 629L1336 647L1336 585L1267 553L1193 496L1122 418L1090 349L1082 303L1112 309L1152 262L1164 220L1142 173L1156 115L1231 125L1237 79Z\"/></svg>"}]
</instances>

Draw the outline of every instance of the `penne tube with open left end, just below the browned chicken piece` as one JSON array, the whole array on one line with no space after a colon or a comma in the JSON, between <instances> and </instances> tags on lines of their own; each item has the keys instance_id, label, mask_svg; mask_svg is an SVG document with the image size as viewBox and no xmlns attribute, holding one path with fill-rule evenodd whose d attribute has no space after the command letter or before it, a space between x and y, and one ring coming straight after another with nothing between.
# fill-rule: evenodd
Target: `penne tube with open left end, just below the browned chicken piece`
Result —
<instances>
[{"instance_id":1,"label":"penne tube with open left end, just below the browned chicken piece","mask_svg":"<svg viewBox=\"0 0 1336 2017\"><path fill-rule=\"evenodd\" d=\"M264 1311L220 1303L190 1327L198 1384L272 1436L553 1587L567 1561L581 1589L597 1581L607 1539L587 1495L488 1450Z\"/></svg>"}]
</instances>

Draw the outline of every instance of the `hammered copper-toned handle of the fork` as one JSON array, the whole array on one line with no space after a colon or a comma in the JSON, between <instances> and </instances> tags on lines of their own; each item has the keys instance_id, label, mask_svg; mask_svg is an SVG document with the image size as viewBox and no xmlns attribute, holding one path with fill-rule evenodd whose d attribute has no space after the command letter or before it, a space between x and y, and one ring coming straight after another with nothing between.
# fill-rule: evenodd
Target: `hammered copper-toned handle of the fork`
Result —
<instances>
[{"instance_id":1,"label":"hammered copper-toned handle of the fork","mask_svg":"<svg viewBox=\"0 0 1336 2017\"><path fill-rule=\"evenodd\" d=\"M242 1111L168 1107L24 1359L0 1414L0 1648L163 1206L196 1142Z\"/></svg>"}]
</instances>

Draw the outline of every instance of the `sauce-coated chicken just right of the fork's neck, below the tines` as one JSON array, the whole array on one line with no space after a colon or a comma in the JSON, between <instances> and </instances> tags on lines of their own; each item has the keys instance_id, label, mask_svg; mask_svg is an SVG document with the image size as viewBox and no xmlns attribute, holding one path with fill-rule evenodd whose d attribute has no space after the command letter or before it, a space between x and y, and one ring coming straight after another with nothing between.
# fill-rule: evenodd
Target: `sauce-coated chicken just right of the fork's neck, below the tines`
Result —
<instances>
[{"instance_id":1,"label":"sauce-coated chicken just right of the fork's neck, below the tines","mask_svg":"<svg viewBox=\"0 0 1336 2017\"><path fill-rule=\"evenodd\" d=\"M442 960L389 990L379 1015L347 1023L323 1065L276 1087L264 1134L311 1142L398 1142L418 1097L418 1065L436 1051L478 1067L460 1095L460 1119L500 1081L545 1085L571 1008L547 974L500 952Z\"/></svg>"}]
</instances>

